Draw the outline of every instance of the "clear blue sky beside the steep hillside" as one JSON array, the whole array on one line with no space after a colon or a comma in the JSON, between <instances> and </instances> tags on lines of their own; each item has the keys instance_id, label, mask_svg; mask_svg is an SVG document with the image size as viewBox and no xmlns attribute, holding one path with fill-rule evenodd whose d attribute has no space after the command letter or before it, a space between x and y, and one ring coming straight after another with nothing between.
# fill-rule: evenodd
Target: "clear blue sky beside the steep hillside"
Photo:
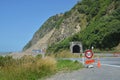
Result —
<instances>
[{"instance_id":1,"label":"clear blue sky beside the steep hillside","mask_svg":"<svg viewBox=\"0 0 120 80\"><path fill-rule=\"evenodd\" d=\"M51 16L79 0L0 0L0 52L19 52Z\"/></svg>"}]
</instances>

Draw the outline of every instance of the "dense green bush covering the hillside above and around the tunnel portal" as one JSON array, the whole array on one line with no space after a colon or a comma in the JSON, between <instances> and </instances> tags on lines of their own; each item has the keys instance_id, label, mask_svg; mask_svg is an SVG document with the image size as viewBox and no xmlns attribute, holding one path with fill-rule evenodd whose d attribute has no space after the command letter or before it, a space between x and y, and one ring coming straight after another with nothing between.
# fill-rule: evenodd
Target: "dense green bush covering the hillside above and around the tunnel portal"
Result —
<instances>
[{"instance_id":1,"label":"dense green bush covering the hillside above and around the tunnel portal","mask_svg":"<svg viewBox=\"0 0 120 80\"><path fill-rule=\"evenodd\" d=\"M50 46L48 51L58 52L69 49L69 42L71 41L81 41L84 45L84 49L94 46L99 50L114 50L114 47L119 45L119 0L83 0L82 2L78 2L73 9L76 9L79 14L84 14L86 16L88 23L86 28ZM72 13L71 11L70 13ZM66 14L68 13L69 12ZM79 20L79 18L77 20Z\"/></svg>"}]
</instances>

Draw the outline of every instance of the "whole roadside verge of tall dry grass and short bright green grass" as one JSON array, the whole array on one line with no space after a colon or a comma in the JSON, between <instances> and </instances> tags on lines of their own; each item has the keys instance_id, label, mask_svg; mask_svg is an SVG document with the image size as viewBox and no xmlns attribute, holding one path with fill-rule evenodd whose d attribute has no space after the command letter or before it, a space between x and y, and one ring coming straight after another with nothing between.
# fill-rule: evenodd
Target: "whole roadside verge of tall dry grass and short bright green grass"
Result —
<instances>
[{"instance_id":1,"label":"whole roadside verge of tall dry grass and short bright green grass","mask_svg":"<svg viewBox=\"0 0 120 80\"><path fill-rule=\"evenodd\" d=\"M24 56L13 59L11 56L0 56L0 80L38 80L55 74L58 71L71 71L82 68L79 62L55 60L40 55Z\"/></svg>"}]
</instances>

